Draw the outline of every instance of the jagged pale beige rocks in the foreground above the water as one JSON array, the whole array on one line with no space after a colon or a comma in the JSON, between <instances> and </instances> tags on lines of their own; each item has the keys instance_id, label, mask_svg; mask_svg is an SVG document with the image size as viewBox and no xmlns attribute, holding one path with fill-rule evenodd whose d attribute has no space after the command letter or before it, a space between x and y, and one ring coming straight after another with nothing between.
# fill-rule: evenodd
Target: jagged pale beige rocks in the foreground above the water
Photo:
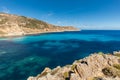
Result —
<instances>
[{"instance_id":1,"label":"jagged pale beige rocks in the foreground above the water","mask_svg":"<svg viewBox=\"0 0 120 80\"><path fill-rule=\"evenodd\" d=\"M27 80L120 80L120 52L92 54L72 65L45 68L41 74Z\"/></svg>"}]
</instances>

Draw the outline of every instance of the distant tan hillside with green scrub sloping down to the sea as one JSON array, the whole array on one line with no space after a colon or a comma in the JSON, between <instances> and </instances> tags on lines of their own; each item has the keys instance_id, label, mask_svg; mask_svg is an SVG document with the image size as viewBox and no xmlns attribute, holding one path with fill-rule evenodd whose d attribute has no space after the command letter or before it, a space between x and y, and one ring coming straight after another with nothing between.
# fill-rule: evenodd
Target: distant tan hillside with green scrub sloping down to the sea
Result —
<instances>
[{"instance_id":1,"label":"distant tan hillside with green scrub sloping down to the sea","mask_svg":"<svg viewBox=\"0 0 120 80\"><path fill-rule=\"evenodd\" d=\"M25 16L0 13L0 37L75 30L78 29L72 26L55 26Z\"/></svg>"}]
</instances>

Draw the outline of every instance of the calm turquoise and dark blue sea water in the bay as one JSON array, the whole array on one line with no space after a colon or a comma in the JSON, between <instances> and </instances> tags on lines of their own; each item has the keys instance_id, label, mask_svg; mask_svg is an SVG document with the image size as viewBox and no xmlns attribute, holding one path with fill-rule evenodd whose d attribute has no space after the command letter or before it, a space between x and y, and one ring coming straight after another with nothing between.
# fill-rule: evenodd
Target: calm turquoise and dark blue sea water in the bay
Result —
<instances>
[{"instance_id":1,"label":"calm turquoise and dark blue sea water in the bay","mask_svg":"<svg viewBox=\"0 0 120 80\"><path fill-rule=\"evenodd\" d=\"M120 50L120 31L50 33L0 39L0 80L26 80L44 67L71 64L93 52Z\"/></svg>"}]
</instances>

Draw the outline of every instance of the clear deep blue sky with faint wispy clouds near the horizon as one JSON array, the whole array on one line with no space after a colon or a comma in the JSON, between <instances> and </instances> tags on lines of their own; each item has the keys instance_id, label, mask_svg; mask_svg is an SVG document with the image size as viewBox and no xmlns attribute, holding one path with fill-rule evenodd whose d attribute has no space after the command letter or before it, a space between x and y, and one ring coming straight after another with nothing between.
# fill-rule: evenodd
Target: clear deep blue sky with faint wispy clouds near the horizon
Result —
<instances>
[{"instance_id":1,"label":"clear deep blue sky with faint wispy clouds near the horizon","mask_svg":"<svg viewBox=\"0 0 120 80\"><path fill-rule=\"evenodd\" d=\"M60 26L120 30L120 0L0 0L0 12Z\"/></svg>"}]
</instances>

